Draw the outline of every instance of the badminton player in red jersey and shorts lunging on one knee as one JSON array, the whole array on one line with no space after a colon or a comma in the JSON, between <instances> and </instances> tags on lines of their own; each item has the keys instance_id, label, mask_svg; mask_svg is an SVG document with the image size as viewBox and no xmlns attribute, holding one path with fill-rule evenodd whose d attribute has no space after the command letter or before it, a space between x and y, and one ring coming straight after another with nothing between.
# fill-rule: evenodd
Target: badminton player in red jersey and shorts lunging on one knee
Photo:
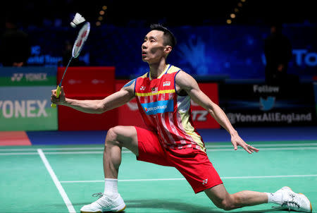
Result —
<instances>
[{"instance_id":1,"label":"badminton player in red jersey and shorts lunging on one knee","mask_svg":"<svg viewBox=\"0 0 317 213\"><path fill-rule=\"evenodd\" d=\"M259 150L240 138L223 110L201 92L191 75L166 63L175 43L170 30L162 25L151 25L142 44L142 60L149 64L149 72L131 80L120 91L104 99L68 99L63 88L61 96L56 98L56 90L52 90L52 103L92 114L101 114L136 98L139 112L147 125L147 129L116 126L108 130L103 159L104 193L97 201L83 206L80 211L120 212L125 209L125 202L118 192L118 169L121 148L126 147L139 161L175 167L192 186L194 193L204 191L221 209L230 210L273 202L299 212L311 212L311 203L307 197L294 193L288 187L275 193L249 190L228 193L206 154L203 139L194 128L190 100L209 111L228 131L234 150L237 150L237 146L250 154Z\"/></svg>"}]
</instances>

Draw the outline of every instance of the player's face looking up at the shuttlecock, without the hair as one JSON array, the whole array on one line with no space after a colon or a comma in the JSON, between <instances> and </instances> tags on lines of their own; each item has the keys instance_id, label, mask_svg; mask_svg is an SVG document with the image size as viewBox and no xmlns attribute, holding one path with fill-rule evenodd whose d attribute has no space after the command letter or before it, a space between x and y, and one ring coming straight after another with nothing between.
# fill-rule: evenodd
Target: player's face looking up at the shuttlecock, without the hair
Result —
<instances>
[{"instance_id":1,"label":"player's face looking up at the shuttlecock, without the hair","mask_svg":"<svg viewBox=\"0 0 317 213\"><path fill-rule=\"evenodd\" d=\"M142 60L147 63L156 63L166 54L166 46L163 45L163 31L151 30L142 44Z\"/></svg>"}]
</instances>

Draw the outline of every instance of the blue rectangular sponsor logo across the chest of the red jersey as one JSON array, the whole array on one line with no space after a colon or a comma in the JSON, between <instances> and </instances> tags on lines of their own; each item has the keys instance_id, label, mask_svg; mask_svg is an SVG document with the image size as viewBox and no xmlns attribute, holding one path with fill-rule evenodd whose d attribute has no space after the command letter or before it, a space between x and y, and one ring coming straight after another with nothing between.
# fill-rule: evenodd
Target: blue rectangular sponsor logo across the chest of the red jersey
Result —
<instances>
[{"instance_id":1,"label":"blue rectangular sponsor logo across the chest of the red jersey","mask_svg":"<svg viewBox=\"0 0 317 213\"><path fill-rule=\"evenodd\" d=\"M173 99L141 104L147 115L154 115L174 110Z\"/></svg>"}]
</instances>

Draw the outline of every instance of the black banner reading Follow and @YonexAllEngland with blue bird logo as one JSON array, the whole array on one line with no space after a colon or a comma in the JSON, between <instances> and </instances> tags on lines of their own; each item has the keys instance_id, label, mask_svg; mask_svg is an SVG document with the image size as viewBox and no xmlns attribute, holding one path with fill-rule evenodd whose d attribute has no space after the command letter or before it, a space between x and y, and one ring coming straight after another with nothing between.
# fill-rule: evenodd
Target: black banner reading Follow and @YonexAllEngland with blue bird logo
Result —
<instances>
[{"instance_id":1,"label":"black banner reading Follow and @YonexAllEngland with blue bird logo","mask_svg":"<svg viewBox=\"0 0 317 213\"><path fill-rule=\"evenodd\" d=\"M220 107L234 126L315 125L313 85L219 85Z\"/></svg>"}]
</instances>

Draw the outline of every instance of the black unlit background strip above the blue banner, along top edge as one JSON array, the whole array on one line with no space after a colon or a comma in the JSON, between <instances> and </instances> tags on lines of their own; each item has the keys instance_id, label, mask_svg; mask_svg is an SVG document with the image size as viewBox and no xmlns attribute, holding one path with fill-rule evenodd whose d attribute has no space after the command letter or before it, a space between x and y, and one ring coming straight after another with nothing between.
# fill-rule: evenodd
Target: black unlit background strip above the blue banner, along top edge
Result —
<instances>
[{"instance_id":1,"label":"black unlit background strip above the blue banner, along top edge","mask_svg":"<svg viewBox=\"0 0 317 213\"><path fill-rule=\"evenodd\" d=\"M242 6L237 4L241 2ZM68 26L76 12L89 20L97 20L101 7L108 8L103 23L112 25L141 25L163 23L174 25L225 24L234 8L239 12L232 24L261 25L278 18L283 23L316 23L313 1L225 0L225 1L6 1L1 6L1 20L15 18L23 27L54 25ZM60 24L59 22L57 23Z\"/></svg>"}]
</instances>

